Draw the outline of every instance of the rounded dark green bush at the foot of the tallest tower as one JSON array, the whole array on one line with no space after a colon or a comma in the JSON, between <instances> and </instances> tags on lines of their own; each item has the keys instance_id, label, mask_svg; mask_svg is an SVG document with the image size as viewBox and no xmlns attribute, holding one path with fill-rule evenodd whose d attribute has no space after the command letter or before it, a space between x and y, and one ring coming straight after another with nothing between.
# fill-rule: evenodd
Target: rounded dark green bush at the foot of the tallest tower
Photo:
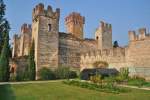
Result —
<instances>
[{"instance_id":1,"label":"rounded dark green bush at the foot of the tallest tower","mask_svg":"<svg viewBox=\"0 0 150 100\"><path fill-rule=\"evenodd\" d=\"M53 80L53 79L56 79L54 72L51 71L48 68L45 68L45 67L42 68L39 71L39 76L40 76L41 80Z\"/></svg>"}]
</instances>

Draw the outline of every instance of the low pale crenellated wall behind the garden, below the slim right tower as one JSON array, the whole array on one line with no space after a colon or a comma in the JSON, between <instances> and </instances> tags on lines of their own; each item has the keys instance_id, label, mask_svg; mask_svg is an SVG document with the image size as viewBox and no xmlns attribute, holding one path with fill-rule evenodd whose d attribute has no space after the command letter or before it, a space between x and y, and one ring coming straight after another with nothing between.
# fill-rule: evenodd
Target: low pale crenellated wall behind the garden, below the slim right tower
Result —
<instances>
[{"instance_id":1,"label":"low pale crenellated wall behind the garden, below the slim right tower","mask_svg":"<svg viewBox=\"0 0 150 100\"><path fill-rule=\"evenodd\" d=\"M95 61L106 61L110 68L120 69L126 67L128 63L125 59L125 48L113 48L105 50L90 51L81 55L81 70L93 68Z\"/></svg>"}]
</instances>

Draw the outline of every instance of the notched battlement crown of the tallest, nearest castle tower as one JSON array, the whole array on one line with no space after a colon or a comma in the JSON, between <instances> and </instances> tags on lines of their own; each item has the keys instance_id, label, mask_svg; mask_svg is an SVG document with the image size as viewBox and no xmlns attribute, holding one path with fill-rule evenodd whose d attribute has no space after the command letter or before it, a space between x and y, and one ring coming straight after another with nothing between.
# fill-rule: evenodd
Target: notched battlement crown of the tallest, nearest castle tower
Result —
<instances>
[{"instance_id":1,"label":"notched battlement crown of the tallest, nearest castle tower","mask_svg":"<svg viewBox=\"0 0 150 100\"><path fill-rule=\"evenodd\" d=\"M59 19L60 9L56 8L56 11L53 11L50 5L47 6L47 9L45 9L44 4L39 3L33 9L32 19L35 20L38 16L46 16L54 19Z\"/></svg>"}]
</instances>

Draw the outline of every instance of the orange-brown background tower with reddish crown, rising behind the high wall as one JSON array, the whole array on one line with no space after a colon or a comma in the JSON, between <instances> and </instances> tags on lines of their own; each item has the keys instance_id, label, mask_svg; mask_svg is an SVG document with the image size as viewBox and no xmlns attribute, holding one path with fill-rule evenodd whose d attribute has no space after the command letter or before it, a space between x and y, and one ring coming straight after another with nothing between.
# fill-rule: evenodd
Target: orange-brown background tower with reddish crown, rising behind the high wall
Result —
<instances>
[{"instance_id":1,"label":"orange-brown background tower with reddish crown, rising behind the high wall","mask_svg":"<svg viewBox=\"0 0 150 100\"><path fill-rule=\"evenodd\" d=\"M77 38L83 39L85 18L79 13L73 12L65 18L67 32Z\"/></svg>"}]
</instances>

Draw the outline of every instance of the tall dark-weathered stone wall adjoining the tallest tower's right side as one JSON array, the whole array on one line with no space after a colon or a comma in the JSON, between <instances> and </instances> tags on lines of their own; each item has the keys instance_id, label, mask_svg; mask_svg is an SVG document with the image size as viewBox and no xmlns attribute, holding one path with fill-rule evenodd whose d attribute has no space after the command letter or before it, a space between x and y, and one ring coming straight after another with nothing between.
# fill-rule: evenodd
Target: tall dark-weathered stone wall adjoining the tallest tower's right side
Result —
<instances>
[{"instance_id":1,"label":"tall dark-weathered stone wall adjoining the tallest tower's right side","mask_svg":"<svg viewBox=\"0 0 150 100\"><path fill-rule=\"evenodd\" d=\"M95 40L79 39L74 35L59 33L59 65L80 68L80 56L83 52L97 48Z\"/></svg>"}]
</instances>

